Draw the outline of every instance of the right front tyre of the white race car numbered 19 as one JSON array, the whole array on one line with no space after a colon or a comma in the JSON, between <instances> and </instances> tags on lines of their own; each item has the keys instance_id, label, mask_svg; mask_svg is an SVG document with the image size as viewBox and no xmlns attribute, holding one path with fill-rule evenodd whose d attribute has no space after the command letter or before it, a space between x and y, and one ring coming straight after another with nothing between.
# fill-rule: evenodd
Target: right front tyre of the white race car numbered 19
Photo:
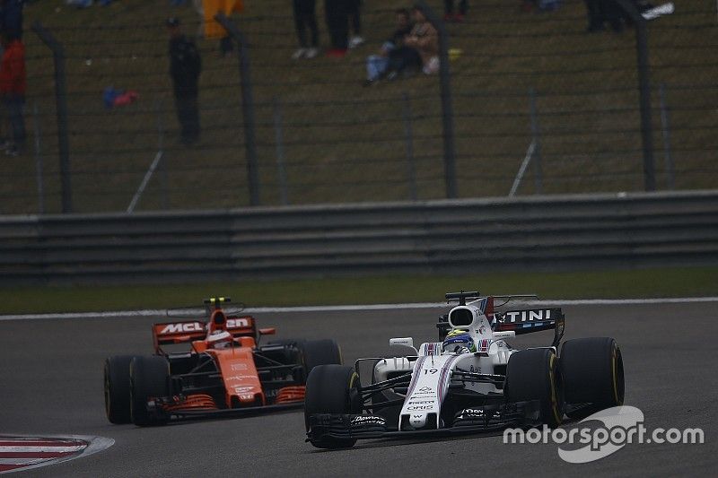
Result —
<instances>
[{"instance_id":1,"label":"right front tyre of the white race car numbered 19","mask_svg":"<svg viewBox=\"0 0 718 478\"><path fill-rule=\"evenodd\" d=\"M538 400L540 420L557 427L564 418L564 387L553 349L513 352L506 367L504 394L508 401Z\"/></svg>"}]
</instances>

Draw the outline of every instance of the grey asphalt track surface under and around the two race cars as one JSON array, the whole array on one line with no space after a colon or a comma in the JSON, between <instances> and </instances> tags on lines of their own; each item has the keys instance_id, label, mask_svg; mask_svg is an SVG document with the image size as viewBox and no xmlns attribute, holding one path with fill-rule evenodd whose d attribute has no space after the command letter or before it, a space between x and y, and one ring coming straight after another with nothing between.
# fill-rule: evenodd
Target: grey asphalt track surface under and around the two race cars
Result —
<instances>
[{"instance_id":1,"label":"grey asphalt track surface under and around the two race cars","mask_svg":"<svg viewBox=\"0 0 718 478\"><path fill-rule=\"evenodd\" d=\"M152 352L153 317L0 321L0 434L91 435L101 453L18 476L675 476L713 475L718 464L718 302L568 305L566 338L613 336L626 369L626 404L645 426L701 428L703 445L631 444L584 465L556 444L504 445L500 435L432 441L368 440L322 451L304 443L302 412L161 428L111 425L104 415L108 355ZM381 355L391 336L433 341L443 308L257 312L277 338L328 338L346 363ZM157 321L163 317L157 317ZM547 345L551 333L516 347ZM575 424L565 425L573 428Z\"/></svg>"}]
</instances>

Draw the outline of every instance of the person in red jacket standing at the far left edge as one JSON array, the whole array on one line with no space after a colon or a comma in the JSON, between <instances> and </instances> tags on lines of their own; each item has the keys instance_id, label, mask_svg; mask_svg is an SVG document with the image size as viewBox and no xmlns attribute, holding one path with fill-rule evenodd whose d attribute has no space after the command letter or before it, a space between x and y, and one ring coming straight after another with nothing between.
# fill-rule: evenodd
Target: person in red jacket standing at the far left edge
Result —
<instances>
[{"instance_id":1,"label":"person in red jacket standing at the far left edge","mask_svg":"<svg viewBox=\"0 0 718 478\"><path fill-rule=\"evenodd\" d=\"M25 119L22 117L27 89L25 47L20 39L10 39L6 32L0 33L0 44L4 48L0 60L0 97L13 130L13 141L6 145L5 152L17 156L25 147Z\"/></svg>"}]
</instances>

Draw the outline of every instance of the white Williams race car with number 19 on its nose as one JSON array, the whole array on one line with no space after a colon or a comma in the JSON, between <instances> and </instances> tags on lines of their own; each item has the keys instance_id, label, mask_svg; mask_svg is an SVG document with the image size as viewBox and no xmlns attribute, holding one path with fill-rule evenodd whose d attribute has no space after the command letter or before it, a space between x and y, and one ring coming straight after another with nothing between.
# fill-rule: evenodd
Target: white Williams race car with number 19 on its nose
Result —
<instances>
[{"instance_id":1,"label":"white Williams race car with number 19 on its nose","mask_svg":"<svg viewBox=\"0 0 718 478\"><path fill-rule=\"evenodd\" d=\"M623 404L616 341L582 338L559 347L563 312L512 308L527 297L535 298L448 293L447 300L459 304L436 325L440 342L417 351L412 338L392 338L391 356L360 359L355 367L316 367L307 379L307 441L346 448L357 439L556 427L565 416ZM515 350L506 343L550 329L547 347ZM371 378L360 377L362 369Z\"/></svg>"}]
</instances>

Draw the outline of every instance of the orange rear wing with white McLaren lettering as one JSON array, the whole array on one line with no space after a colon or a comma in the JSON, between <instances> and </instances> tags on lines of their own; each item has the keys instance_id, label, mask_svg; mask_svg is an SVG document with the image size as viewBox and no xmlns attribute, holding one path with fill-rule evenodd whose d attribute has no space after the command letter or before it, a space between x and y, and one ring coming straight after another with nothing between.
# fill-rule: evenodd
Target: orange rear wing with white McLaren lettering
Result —
<instances>
[{"instance_id":1,"label":"orange rear wing with white McLaren lettering","mask_svg":"<svg viewBox=\"0 0 718 478\"><path fill-rule=\"evenodd\" d=\"M162 353L162 345L173 343L190 343L206 338L208 324L206 320L187 320L179 322L163 322L152 326L154 350ZM223 326L233 337L250 336L257 340L257 327L254 317L227 316Z\"/></svg>"}]
</instances>

